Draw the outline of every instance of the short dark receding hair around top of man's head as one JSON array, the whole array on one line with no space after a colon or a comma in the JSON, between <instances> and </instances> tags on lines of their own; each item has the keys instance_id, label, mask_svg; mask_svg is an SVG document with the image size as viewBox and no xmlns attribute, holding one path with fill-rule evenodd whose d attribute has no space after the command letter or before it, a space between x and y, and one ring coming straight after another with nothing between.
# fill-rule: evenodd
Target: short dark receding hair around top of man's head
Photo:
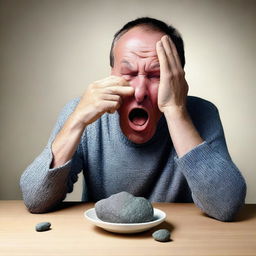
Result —
<instances>
[{"instance_id":1,"label":"short dark receding hair around top of man's head","mask_svg":"<svg viewBox=\"0 0 256 256\"><path fill-rule=\"evenodd\" d=\"M125 34L128 30L130 30L133 27L136 26L148 26L153 30L163 32L167 34L173 41L173 43L176 46L176 49L179 54L180 62L182 68L185 66L185 54L184 54L184 43L182 40L182 37L180 33L175 29L173 26L167 25L165 22L157 19L153 19L150 17L142 17L135 20L132 20L128 23L126 23L120 30L118 30L115 35L114 39L112 41L111 50L110 50L110 66L114 67L114 54L113 49L115 46L115 43L118 41L118 39Z\"/></svg>"}]
</instances>

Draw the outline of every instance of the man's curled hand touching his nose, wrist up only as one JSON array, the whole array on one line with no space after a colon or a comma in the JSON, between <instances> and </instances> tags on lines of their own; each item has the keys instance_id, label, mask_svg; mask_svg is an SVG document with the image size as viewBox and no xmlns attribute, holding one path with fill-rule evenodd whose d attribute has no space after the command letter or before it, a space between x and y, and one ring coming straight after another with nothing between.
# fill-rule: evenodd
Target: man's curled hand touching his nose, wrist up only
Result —
<instances>
[{"instance_id":1,"label":"man's curled hand touching his nose, wrist up only","mask_svg":"<svg viewBox=\"0 0 256 256\"><path fill-rule=\"evenodd\" d=\"M122 97L133 94L134 89L124 78L109 76L89 85L73 114L87 126L106 112L114 113L121 106Z\"/></svg>"}]
</instances>

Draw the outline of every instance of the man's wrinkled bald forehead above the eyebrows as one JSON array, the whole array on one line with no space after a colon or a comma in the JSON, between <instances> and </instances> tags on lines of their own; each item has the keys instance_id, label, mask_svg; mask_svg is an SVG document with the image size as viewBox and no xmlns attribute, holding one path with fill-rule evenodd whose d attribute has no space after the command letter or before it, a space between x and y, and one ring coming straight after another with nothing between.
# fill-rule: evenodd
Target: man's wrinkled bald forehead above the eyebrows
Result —
<instances>
[{"instance_id":1,"label":"man's wrinkled bald forehead above the eyebrows","mask_svg":"<svg viewBox=\"0 0 256 256\"><path fill-rule=\"evenodd\" d=\"M113 54L115 61L125 57L156 57L156 43L165 33L152 28L138 26L123 34L116 42Z\"/></svg>"}]
</instances>

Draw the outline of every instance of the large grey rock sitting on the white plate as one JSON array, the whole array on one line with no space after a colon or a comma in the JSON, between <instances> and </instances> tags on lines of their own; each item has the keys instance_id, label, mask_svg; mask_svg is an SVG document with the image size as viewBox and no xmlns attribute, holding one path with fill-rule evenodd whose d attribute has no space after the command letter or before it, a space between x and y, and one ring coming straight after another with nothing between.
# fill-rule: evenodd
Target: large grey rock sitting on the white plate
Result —
<instances>
[{"instance_id":1,"label":"large grey rock sitting on the white plate","mask_svg":"<svg viewBox=\"0 0 256 256\"><path fill-rule=\"evenodd\" d=\"M151 203L144 197L120 192L95 204L97 217L113 223L142 223L154 219Z\"/></svg>"}]
</instances>

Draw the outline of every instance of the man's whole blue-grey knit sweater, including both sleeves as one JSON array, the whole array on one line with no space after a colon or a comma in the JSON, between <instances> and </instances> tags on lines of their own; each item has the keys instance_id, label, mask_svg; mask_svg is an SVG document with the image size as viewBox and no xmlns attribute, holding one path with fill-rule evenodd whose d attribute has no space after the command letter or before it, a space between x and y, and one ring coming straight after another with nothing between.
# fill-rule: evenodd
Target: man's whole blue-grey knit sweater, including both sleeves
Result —
<instances>
[{"instance_id":1,"label":"man's whole blue-grey knit sweater, including both sleeves","mask_svg":"<svg viewBox=\"0 0 256 256\"><path fill-rule=\"evenodd\" d=\"M230 221L244 203L245 181L232 162L217 108L188 97L187 109L204 142L177 157L164 115L144 144L121 132L119 115L104 114L87 126L73 158L50 169L51 144L79 98L62 110L42 153L21 176L25 205L33 213L51 210L72 192L83 171L83 201L98 201L120 191L152 202L194 202L206 214Z\"/></svg>"}]
</instances>

